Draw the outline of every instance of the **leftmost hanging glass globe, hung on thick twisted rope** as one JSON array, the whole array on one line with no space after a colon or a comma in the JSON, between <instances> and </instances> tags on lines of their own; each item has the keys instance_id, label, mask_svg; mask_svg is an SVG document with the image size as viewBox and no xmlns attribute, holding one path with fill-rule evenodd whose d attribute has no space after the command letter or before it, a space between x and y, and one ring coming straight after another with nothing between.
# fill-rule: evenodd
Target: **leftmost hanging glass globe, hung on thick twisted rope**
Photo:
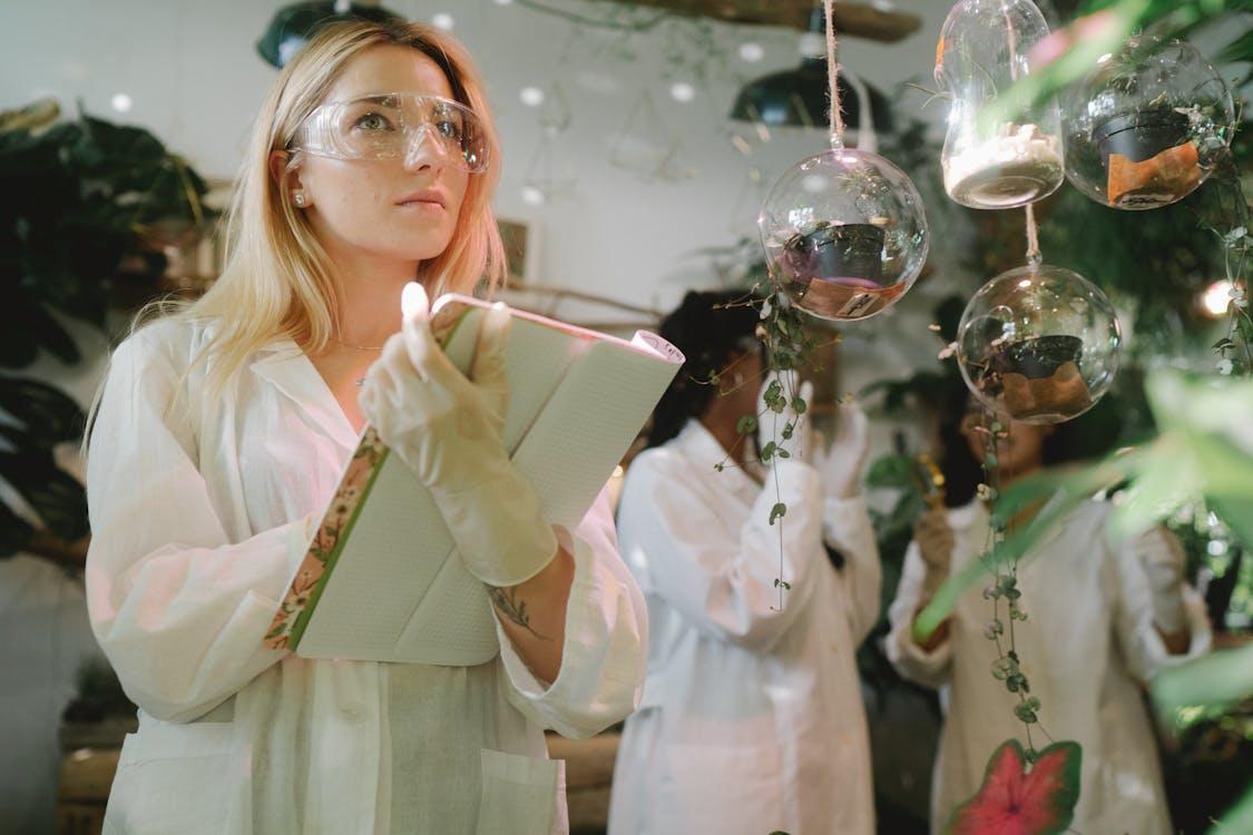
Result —
<instances>
[{"instance_id":1,"label":"leftmost hanging glass globe, hung on thick twisted rope","mask_svg":"<svg viewBox=\"0 0 1253 835\"><path fill-rule=\"evenodd\" d=\"M822 319L865 319L922 272L927 220L910 178L877 154L832 148L793 165L757 220L778 289Z\"/></svg>"}]
</instances>

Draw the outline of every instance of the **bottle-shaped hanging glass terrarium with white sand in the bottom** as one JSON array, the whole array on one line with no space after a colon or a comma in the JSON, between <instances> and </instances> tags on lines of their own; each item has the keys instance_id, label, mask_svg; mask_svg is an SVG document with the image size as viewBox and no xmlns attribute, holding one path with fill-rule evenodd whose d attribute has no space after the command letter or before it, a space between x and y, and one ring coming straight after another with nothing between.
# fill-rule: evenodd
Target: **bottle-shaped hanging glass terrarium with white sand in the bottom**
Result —
<instances>
[{"instance_id":1,"label":"bottle-shaped hanging glass terrarium with white sand in the bottom","mask_svg":"<svg viewBox=\"0 0 1253 835\"><path fill-rule=\"evenodd\" d=\"M1009 118L987 109L1027 74L1027 53L1049 35L1030 0L961 0L936 48L936 84L951 98L941 165L945 190L975 209L1021 207L1064 179L1061 119L1049 100Z\"/></svg>"}]
</instances>

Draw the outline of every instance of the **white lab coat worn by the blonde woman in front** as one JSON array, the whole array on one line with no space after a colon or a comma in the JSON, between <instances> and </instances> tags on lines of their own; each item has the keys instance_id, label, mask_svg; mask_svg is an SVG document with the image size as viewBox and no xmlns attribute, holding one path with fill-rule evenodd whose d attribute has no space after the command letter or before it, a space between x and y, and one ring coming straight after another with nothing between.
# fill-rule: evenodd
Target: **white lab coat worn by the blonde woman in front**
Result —
<instances>
[{"instance_id":1,"label":"white lab coat worn by the blonde woman in front","mask_svg":"<svg viewBox=\"0 0 1253 835\"><path fill-rule=\"evenodd\" d=\"M88 605L140 709L105 831L565 831L543 729L620 720L645 662L643 598L604 497L574 532L551 686L502 631L500 656L469 669L263 648L357 434L289 341L208 398L188 373L205 336L167 320L123 343L91 437Z\"/></svg>"}]
</instances>

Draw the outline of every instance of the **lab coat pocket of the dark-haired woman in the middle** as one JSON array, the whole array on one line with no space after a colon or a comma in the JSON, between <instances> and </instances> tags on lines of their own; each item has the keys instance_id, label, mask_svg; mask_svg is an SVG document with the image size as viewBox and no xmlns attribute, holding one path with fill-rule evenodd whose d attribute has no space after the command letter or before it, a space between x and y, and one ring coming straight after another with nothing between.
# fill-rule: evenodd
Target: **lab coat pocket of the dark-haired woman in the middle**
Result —
<instances>
[{"instance_id":1,"label":"lab coat pocket of the dark-haired woman in the middle","mask_svg":"<svg viewBox=\"0 0 1253 835\"><path fill-rule=\"evenodd\" d=\"M774 745L663 745L658 771L657 832L752 832L788 829Z\"/></svg>"}]
</instances>

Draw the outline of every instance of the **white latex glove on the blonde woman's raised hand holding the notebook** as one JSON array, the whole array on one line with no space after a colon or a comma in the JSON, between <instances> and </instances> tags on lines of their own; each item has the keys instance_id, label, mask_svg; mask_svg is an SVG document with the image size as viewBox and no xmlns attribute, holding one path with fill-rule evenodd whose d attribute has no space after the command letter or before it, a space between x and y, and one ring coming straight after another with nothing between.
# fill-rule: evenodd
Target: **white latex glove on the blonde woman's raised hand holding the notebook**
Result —
<instances>
[{"instance_id":1,"label":"white latex glove on the blonde woman's raised hand holding the notebook","mask_svg":"<svg viewBox=\"0 0 1253 835\"><path fill-rule=\"evenodd\" d=\"M402 307L401 332L366 374L361 411L431 491L470 573L489 586L516 586L548 566L558 540L500 439L509 314L482 318L466 378L431 334L426 290L406 285Z\"/></svg>"}]
</instances>

